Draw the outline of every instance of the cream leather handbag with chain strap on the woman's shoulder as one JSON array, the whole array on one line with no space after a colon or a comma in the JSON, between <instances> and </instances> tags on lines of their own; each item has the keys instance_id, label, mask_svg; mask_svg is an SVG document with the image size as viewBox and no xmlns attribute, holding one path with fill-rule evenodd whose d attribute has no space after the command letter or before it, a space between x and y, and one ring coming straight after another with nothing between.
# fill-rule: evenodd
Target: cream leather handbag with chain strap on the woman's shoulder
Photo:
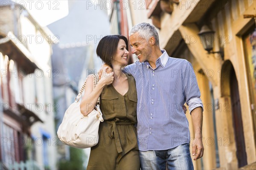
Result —
<instances>
[{"instance_id":1,"label":"cream leather handbag with chain strap on the woman's shoulder","mask_svg":"<svg viewBox=\"0 0 256 170\"><path fill-rule=\"evenodd\" d=\"M99 98L96 107L88 115L84 116L80 112L80 102L78 101L84 91L87 78L76 96L75 102L66 110L57 131L58 138L64 144L76 148L95 146L99 141L99 123L103 121L102 112L99 109ZM93 89L98 81L99 75L93 75Z\"/></svg>"}]
</instances>

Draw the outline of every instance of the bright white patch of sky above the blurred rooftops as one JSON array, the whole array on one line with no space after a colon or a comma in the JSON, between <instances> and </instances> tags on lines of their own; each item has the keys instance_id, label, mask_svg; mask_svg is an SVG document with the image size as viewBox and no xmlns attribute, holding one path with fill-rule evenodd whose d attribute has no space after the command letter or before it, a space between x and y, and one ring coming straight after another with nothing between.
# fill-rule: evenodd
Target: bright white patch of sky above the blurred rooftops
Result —
<instances>
[{"instance_id":1,"label":"bright white patch of sky above the blurred rooftops","mask_svg":"<svg viewBox=\"0 0 256 170\"><path fill-rule=\"evenodd\" d=\"M12 0L23 5L34 19L41 25L47 26L68 14L67 0ZM11 2L10 2L11 3ZM18 6L22 8L22 6Z\"/></svg>"}]
</instances>

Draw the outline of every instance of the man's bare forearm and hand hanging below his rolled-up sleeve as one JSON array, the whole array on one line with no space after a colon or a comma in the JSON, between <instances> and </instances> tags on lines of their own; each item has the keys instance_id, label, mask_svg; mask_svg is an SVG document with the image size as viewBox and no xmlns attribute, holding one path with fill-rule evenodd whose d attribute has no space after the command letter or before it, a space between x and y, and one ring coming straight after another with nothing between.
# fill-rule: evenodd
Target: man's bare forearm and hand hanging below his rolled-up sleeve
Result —
<instances>
[{"instance_id":1,"label":"man's bare forearm and hand hanging below his rolled-up sleeve","mask_svg":"<svg viewBox=\"0 0 256 170\"><path fill-rule=\"evenodd\" d=\"M197 159L201 158L204 155L204 145L202 142L202 107L196 107L195 109L193 109L191 112L191 116L195 130L195 139L192 143L192 156L195 156L194 160L196 161Z\"/></svg>"}]
</instances>

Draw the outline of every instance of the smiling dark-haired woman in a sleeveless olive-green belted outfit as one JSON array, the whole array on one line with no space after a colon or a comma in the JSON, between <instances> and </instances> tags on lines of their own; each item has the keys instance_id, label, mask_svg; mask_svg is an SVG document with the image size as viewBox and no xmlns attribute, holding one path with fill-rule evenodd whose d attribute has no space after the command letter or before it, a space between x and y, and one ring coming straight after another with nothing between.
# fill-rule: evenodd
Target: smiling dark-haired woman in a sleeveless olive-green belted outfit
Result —
<instances>
[{"instance_id":1,"label":"smiling dark-haired woman in a sleeveless olive-green belted outfit","mask_svg":"<svg viewBox=\"0 0 256 170\"><path fill-rule=\"evenodd\" d=\"M99 142L91 148L87 170L139 170L134 126L137 123L136 86L134 78L122 72L122 67L128 63L128 40L122 35L105 36L99 41L96 53L114 72L107 73L106 67L94 90L93 77L89 76L84 89L81 113L89 114L100 96L104 118L99 125Z\"/></svg>"}]
</instances>

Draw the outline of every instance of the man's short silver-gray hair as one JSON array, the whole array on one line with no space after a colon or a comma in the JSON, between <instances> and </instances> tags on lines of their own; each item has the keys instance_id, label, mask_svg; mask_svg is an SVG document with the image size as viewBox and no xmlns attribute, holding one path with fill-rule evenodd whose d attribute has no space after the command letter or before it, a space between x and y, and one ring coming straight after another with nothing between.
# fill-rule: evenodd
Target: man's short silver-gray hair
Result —
<instances>
[{"instance_id":1,"label":"man's short silver-gray hair","mask_svg":"<svg viewBox=\"0 0 256 170\"><path fill-rule=\"evenodd\" d=\"M131 28L129 31L129 36L134 35L135 33L139 33L139 35L143 36L145 40L149 40L149 37L155 38L155 43L157 46L159 46L159 37L157 30L149 23L139 23Z\"/></svg>"}]
</instances>

